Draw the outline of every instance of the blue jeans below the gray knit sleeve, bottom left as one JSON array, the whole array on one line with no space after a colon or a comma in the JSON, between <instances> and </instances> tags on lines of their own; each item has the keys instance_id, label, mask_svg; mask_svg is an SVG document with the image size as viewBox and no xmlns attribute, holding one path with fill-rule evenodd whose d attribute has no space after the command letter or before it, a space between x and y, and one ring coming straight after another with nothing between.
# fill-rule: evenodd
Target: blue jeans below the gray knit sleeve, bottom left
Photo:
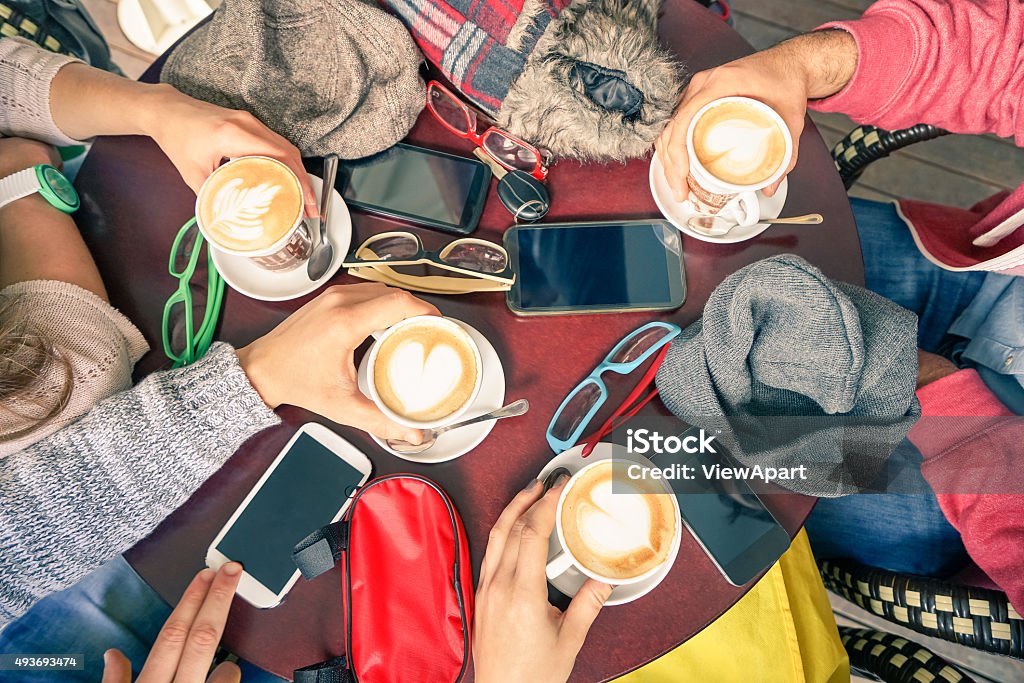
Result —
<instances>
[{"instance_id":1,"label":"blue jeans below the gray knit sleeve, bottom left","mask_svg":"<svg viewBox=\"0 0 1024 683\"><path fill-rule=\"evenodd\" d=\"M0 631L0 654L76 654L81 671L3 672L3 681L95 683L102 676L103 652L124 652L138 675L171 607L122 557L99 567L66 591L47 596ZM282 679L240 663L246 683Z\"/></svg>"}]
</instances>

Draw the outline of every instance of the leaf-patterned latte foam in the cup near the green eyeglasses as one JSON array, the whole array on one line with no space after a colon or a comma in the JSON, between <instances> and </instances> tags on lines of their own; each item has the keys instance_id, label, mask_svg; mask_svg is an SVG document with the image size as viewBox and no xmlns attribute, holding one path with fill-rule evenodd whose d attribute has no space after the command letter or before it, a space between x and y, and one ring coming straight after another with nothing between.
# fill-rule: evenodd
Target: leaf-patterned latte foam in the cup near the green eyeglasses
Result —
<instances>
[{"instance_id":1,"label":"leaf-patterned latte foam in the cup near the green eyeglasses","mask_svg":"<svg viewBox=\"0 0 1024 683\"><path fill-rule=\"evenodd\" d=\"M245 157L207 179L196 203L204 233L238 252L265 251L284 238L302 213L302 189L279 161Z\"/></svg>"}]
</instances>

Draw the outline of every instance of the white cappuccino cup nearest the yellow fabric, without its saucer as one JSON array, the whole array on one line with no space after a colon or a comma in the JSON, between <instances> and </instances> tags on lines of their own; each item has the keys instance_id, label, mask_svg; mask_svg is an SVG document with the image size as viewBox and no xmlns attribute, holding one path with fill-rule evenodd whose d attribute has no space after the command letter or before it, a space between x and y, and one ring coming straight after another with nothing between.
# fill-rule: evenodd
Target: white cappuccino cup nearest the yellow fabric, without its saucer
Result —
<instances>
[{"instance_id":1,"label":"white cappuccino cup nearest the yellow fabric, without its saucer","mask_svg":"<svg viewBox=\"0 0 1024 683\"><path fill-rule=\"evenodd\" d=\"M612 586L637 584L671 561L682 536L679 503L662 480L633 479L630 466L650 463L606 459L569 478L558 499L558 552L548 579L570 568Z\"/></svg>"}]
</instances>

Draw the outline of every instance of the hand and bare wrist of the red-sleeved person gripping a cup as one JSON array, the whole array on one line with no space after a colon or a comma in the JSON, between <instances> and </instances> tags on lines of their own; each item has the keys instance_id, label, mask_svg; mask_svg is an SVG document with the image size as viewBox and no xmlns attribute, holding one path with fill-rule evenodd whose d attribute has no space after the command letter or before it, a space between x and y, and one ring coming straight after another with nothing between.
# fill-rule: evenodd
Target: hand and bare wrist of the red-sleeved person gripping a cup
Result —
<instances>
[{"instance_id":1,"label":"hand and bare wrist of the red-sleeved person gripping a cup","mask_svg":"<svg viewBox=\"0 0 1024 683\"><path fill-rule=\"evenodd\" d=\"M655 142L666 180L676 200L682 202L689 194L686 187L689 173L686 133L701 106L721 97L741 95L761 100L775 110L793 136L788 174L797 166L807 100L841 90L853 77L856 66L856 42L845 31L829 30L798 36L762 52L695 74L675 115ZM765 195L773 196L780 184L781 178L766 187Z\"/></svg>"}]
</instances>

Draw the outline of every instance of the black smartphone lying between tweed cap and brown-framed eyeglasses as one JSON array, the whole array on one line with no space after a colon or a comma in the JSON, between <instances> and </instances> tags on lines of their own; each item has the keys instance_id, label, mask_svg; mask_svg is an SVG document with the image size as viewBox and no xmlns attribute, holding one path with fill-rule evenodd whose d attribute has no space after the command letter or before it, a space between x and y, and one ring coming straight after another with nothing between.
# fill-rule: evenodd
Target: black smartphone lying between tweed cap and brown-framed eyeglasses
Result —
<instances>
[{"instance_id":1,"label":"black smartphone lying between tweed cap and brown-framed eyeglasses","mask_svg":"<svg viewBox=\"0 0 1024 683\"><path fill-rule=\"evenodd\" d=\"M476 229L490 184L490 169L476 159L403 142L345 162L342 172L350 206L457 234Z\"/></svg>"}]
</instances>

